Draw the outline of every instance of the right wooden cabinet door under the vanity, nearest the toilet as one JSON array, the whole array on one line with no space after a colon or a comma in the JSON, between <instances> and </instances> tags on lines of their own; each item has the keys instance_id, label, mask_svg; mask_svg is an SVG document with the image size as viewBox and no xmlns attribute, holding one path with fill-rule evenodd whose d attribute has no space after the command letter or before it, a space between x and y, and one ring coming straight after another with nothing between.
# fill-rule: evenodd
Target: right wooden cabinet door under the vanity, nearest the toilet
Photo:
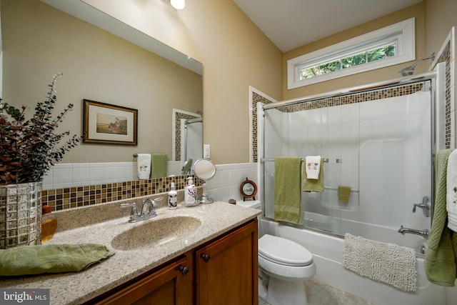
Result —
<instances>
[{"instance_id":1,"label":"right wooden cabinet door under the vanity, nearest the toilet","mask_svg":"<svg viewBox=\"0 0 457 305\"><path fill-rule=\"evenodd\" d=\"M196 304L258 304L257 219L195 255Z\"/></svg>"}]
</instances>

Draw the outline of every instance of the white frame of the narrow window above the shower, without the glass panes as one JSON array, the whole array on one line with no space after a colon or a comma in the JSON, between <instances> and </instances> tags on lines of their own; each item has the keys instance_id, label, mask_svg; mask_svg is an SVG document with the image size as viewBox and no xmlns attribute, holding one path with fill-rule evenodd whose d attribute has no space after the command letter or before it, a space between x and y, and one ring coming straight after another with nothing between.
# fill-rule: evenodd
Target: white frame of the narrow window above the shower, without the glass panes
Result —
<instances>
[{"instance_id":1,"label":"white frame of the narrow window above the shower, without the glass panes","mask_svg":"<svg viewBox=\"0 0 457 305\"><path fill-rule=\"evenodd\" d=\"M331 73L311 77L309 79L298 80L299 70L316 66L318 64L336 61L345 58L348 54L357 54L366 50L368 46L383 43L383 41L396 41L396 55L386 59L371 61L358 66L333 71ZM303 54L287 61L287 89L296 89L301 86L320 83L331 79L337 79L343 76L358 74L361 72L380 69L386 66L402 64L407 61L416 59L416 39L415 39L415 19L406 19L405 21L383 27L376 31L342 41L332 46Z\"/></svg>"}]
</instances>

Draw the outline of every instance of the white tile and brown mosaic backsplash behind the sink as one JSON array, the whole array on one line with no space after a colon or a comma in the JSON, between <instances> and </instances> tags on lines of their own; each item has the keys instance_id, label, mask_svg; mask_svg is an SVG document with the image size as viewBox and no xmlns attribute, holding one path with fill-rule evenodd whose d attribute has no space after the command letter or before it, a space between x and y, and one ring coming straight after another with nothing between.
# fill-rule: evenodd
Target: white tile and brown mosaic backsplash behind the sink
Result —
<instances>
[{"instance_id":1,"label":"white tile and brown mosaic backsplash behind the sink","mask_svg":"<svg viewBox=\"0 0 457 305\"><path fill-rule=\"evenodd\" d=\"M176 189L183 189L187 177L138 180L136 162L58 164L45 177L41 198L43 204L59 211L163 193L169 191L171 182ZM256 163L216 165L207 193L215 201L241 200L240 185L246 178L258 184ZM195 180L196 186L202 185L202 181Z\"/></svg>"}]
</instances>

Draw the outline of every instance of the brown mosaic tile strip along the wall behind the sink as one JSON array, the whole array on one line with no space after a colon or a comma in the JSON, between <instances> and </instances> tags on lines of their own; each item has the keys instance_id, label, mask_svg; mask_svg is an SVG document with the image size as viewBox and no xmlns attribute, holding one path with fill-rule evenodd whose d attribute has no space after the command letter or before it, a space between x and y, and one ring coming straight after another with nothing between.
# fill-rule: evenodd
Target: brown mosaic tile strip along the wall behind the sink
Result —
<instances>
[{"instance_id":1,"label":"brown mosaic tile strip along the wall behind the sink","mask_svg":"<svg viewBox=\"0 0 457 305\"><path fill-rule=\"evenodd\" d=\"M51 206L53 211L60 211L79 206L90 206L110 201L159 194L169 191L171 182L174 182L177 190L184 189L188 177L189 176L174 176L117 182L112 184L76 186L64 189L49 189L41 191L41 203L43 205ZM194 177L194 181L196 181L196 186L203 185L203 182L200 181L200 179Z\"/></svg>"}]
</instances>

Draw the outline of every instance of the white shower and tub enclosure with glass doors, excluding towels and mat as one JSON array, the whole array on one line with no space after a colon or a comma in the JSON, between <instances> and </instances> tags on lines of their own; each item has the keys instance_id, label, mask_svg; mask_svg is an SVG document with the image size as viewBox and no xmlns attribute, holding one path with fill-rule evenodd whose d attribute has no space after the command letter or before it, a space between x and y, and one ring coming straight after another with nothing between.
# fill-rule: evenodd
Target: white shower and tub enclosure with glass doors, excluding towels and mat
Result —
<instances>
[{"instance_id":1,"label":"white shower and tub enclosure with glass doors, excluding towels and mat","mask_svg":"<svg viewBox=\"0 0 457 305\"><path fill-rule=\"evenodd\" d=\"M430 80L322 98L264 111L260 173L264 217L261 234L273 234L306 246L315 257L316 279L376 304L446 304L444 288L430 284L423 272L427 241L398 233L401 225L430 229L431 219L413 204L433 198L432 155L435 143L436 81ZM432 98L433 96L433 98ZM442 104L441 104L442 103ZM263 140L263 141L262 141ZM276 223L273 213L276 156L321 155L325 189L303 192L298 226ZM338 200L338 186L349 186L348 202ZM408 246L416 251L417 292L400 291L341 266L343 235Z\"/></svg>"}]
</instances>

